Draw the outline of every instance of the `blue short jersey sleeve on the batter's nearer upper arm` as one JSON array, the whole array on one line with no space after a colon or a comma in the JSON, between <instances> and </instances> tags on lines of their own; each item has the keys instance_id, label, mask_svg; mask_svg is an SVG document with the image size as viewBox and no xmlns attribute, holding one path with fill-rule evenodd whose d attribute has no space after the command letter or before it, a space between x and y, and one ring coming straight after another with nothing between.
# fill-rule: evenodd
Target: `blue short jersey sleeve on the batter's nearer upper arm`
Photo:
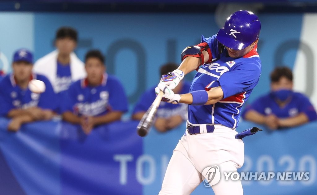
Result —
<instances>
[{"instance_id":1,"label":"blue short jersey sleeve on the batter's nearer upper arm","mask_svg":"<svg viewBox=\"0 0 317 195\"><path fill-rule=\"evenodd\" d=\"M261 66L241 64L220 76L218 82L223 90L223 99L253 89L259 81Z\"/></svg>"}]
</instances>

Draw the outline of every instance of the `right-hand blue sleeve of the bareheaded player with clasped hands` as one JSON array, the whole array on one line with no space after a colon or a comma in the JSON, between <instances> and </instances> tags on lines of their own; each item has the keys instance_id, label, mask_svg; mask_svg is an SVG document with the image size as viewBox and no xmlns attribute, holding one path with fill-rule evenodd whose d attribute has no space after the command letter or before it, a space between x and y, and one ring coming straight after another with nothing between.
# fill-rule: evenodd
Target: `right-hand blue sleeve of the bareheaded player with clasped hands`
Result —
<instances>
[{"instance_id":1,"label":"right-hand blue sleeve of the bareheaded player with clasped hands","mask_svg":"<svg viewBox=\"0 0 317 195\"><path fill-rule=\"evenodd\" d=\"M128 111L128 99L126 93L118 80L111 83L111 91L109 91L109 104L113 111Z\"/></svg>"}]
</instances>

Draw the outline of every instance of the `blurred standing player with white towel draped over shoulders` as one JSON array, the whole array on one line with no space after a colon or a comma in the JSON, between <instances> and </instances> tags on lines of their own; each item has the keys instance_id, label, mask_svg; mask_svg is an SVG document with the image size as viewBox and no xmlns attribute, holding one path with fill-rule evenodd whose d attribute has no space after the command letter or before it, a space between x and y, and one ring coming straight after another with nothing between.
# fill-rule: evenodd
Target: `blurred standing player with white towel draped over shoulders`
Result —
<instances>
[{"instance_id":1,"label":"blurred standing player with white towel draped over shoulders","mask_svg":"<svg viewBox=\"0 0 317 195\"><path fill-rule=\"evenodd\" d=\"M77 31L61 27L56 32L56 50L37 60L34 72L45 75L52 83L56 94L65 91L70 84L85 78L84 63L76 56Z\"/></svg>"}]
</instances>

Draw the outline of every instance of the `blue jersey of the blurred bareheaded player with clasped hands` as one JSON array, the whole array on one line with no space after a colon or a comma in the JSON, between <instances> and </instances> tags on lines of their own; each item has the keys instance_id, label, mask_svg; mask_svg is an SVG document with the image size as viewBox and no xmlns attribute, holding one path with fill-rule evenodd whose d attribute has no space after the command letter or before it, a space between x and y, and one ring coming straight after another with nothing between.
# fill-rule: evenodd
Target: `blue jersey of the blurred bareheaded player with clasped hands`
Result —
<instances>
[{"instance_id":1,"label":"blue jersey of the blurred bareheaded player with clasped hands","mask_svg":"<svg viewBox=\"0 0 317 195\"><path fill-rule=\"evenodd\" d=\"M70 111L79 116L100 116L110 111L127 110L128 101L120 81L107 74L95 87L88 85L87 78L74 82L61 106L61 113Z\"/></svg>"}]
</instances>

